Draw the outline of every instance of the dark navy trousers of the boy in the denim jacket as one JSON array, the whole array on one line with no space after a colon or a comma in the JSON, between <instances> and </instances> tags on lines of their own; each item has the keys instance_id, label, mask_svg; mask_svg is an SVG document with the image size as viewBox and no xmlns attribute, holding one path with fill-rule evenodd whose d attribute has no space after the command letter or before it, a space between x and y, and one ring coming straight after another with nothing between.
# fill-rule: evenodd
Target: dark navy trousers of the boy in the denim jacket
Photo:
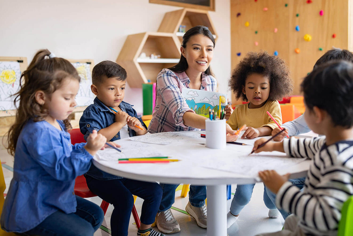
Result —
<instances>
[{"instance_id":1,"label":"dark navy trousers of the boy in the denim jacket","mask_svg":"<svg viewBox=\"0 0 353 236\"><path fill-rule=\"evenodd\" d=\"M98 180L89 175L85 175L85 177L88 188L114 206L110 217L112 236L126 236L128 233L134 204L132 195L144 199L141 208L141 223L152 224L155 221L162 198L162 189L156 182L150 183L126 178Z\"/></svg>"}]
</instances>

